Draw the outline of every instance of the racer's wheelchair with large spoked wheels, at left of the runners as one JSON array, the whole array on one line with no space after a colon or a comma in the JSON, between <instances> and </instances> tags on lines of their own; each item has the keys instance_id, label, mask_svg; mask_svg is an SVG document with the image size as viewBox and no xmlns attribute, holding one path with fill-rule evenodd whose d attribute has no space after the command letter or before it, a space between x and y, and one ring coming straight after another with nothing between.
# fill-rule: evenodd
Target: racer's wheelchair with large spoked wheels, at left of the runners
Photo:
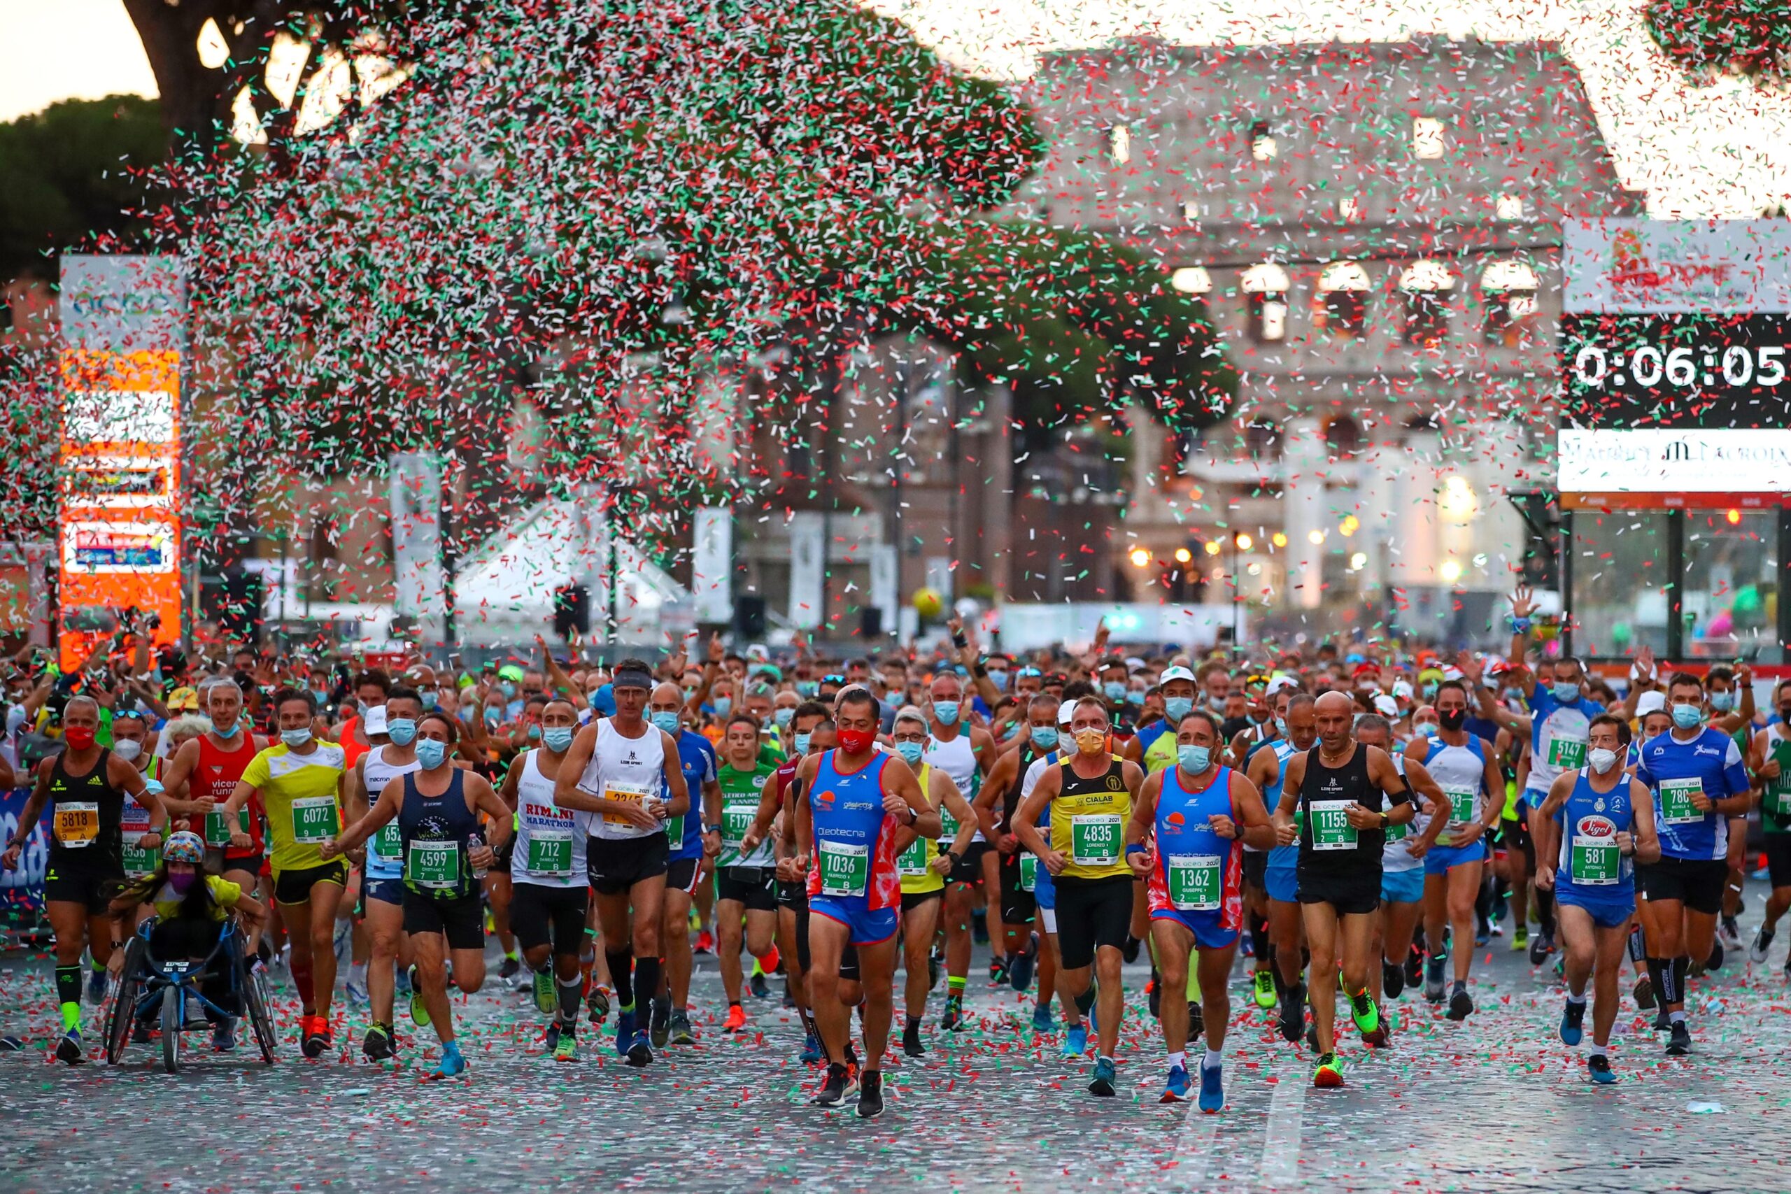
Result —
<instances>
[{"instance_id":1,"label":"racer's wheelchair with large spoked wheels, at left of the runners","mask_svg":"<svg viewBox=\"0 0 1791 1194\"><path fill-rule=\"evenodd\" d=\"M222 922L217 943L201 961L158 961L152 958L149 943L154 927L156 918L150 917L125 943L124 974L118 979L111 1019L106 1022L106 1063L118 1065L136 1024L150 1024L159 1017L161 1067L170 1074L177 1072L181 1069L181 1036L188 1031L188 1010L217 1017L238 1015L208 999L202 990L206 979L222 976L229 985L227 1002L235 1002L242 1010L240 1015L249 1022L254 1044L261 1051L261 1062L272 1065L274 1020L267 1011L267 970L261 965L251 965L256 959L244 954L236 918Z\"/></svg>"}]
</instances>

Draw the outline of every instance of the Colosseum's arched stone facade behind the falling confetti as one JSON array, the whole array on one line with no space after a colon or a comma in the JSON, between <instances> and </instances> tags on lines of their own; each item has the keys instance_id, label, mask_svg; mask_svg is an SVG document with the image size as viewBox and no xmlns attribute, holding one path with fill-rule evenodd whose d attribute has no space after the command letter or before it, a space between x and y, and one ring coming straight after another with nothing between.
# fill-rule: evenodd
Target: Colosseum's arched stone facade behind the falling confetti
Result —
<instances>
[{"instance_id":1,"label":"Colosseum's arched stone facade behind the falling confetti","mask_svg":"<svg viewBox=\"0 0 1791 1194\"><path fill-rule=\"evenodd\" d=\"M1524 553L1506 492L1553 485L1562 220L1642 211L1572 64L1128 41L1044 55L1028 98L1053 154L1019 202L1155 256L1243 374L1225 424L1135 424L1139 596L1180 553L1209 598L1485 621Z\"/></svg>"}]
</instances>

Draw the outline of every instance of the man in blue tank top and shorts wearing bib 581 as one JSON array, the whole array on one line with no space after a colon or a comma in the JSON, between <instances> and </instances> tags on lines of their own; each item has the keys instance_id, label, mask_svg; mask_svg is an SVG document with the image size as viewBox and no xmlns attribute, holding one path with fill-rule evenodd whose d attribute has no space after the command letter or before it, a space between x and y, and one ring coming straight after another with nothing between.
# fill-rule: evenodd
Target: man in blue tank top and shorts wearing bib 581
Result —
<instances>
[{"instance_id":1,"label":"man in blue tank top and shorts wearing bib 581","mask_svg":"<svg viewBox=\"0 0 1791 1194\"><path fill-rule=\"evenodd\" d=\"M1592 977L1592 1049L1587 1072L1610 1072L1610 1026L1617 1019L1617 967L1623 965L1635 913L1635 863L1660 857L1655 802L1641 780L1623 772L1630 725L1603 712L1587 734L1587 766L1549 784L1537 841L1537 886L1555 890L1565 947L1567 1006L1562 1040L1578 1045L1585 1020L1585 981Z\"/></svg>"}]
</instances>

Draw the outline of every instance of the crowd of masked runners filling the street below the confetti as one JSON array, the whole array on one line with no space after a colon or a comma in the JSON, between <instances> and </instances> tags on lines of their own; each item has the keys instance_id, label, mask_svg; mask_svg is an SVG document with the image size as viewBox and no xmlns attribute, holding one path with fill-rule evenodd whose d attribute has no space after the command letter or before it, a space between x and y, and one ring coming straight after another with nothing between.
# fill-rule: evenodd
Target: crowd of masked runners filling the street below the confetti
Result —
<instances>
[{"instance_id":1,"label":"crowd of masked runners filling the street below the confetti","mask_svg":"<svg viewBox=\"0 0 1791 1194\"><path fill-rule=\"evenodd\" d=\"M290 976L304 1056L330 1053L340 992L371 1062L399 1051L403 1004L439 1040L432 1078L467 1067L450 994L487 983L491 938L562 1062L598 1033L638 1067L693 1044L693 958L715 954L720 1031L750 1031L781 976L815 1103L870 1117L897 1011L906 1056L962 1031L985 936L987 981L1030 992L1093 1096L1114 1094L1121 967L1148 958L1162 1099L1218 1112L1239 961L1338 1087L1340 1015L1354 1062L1395 1045L1401 1001L1467 1020L1476 947L1503 938L1560 976L1560 1040L1590 1033L1608 1083L1624 999L1685 1054L1689 990L1768 958L1791 906L1791 680L1757 709L1744 666L1642 652L1608 682L1531 643L1531 612L1519 591L1503 655L1447 657L1125 653L1105 630L1007 655L958 623L840 661L711 639L596 666L537 643L355 671L118 643L61 675L21 653L0 782L30 798L0 865L48 814L68 1063L136 924L156 917L156 956L202 958L238 915L256 965ZM1744 947L1752 818L1771 895Z\"/></svg>"}]
</instances>

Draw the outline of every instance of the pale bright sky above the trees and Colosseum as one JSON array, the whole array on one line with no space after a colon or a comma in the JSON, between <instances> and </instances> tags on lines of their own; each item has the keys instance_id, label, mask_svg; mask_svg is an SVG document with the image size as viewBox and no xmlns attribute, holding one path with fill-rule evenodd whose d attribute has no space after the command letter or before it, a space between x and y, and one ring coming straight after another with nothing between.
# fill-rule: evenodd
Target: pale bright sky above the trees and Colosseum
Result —
<instances>
[{"instance_id":1,"label":"pale bright sky above the trees and Colosseum","mask_svg":"<svg viewBox=\"0 0 1791 1194\"><path fill-rule=\"evenodd\" d=\"M1399 39L1474 32L1558 41L1585 77L1624 186L1657 217L1755 217L1791 202L1791 95L1687 82L1641 0L874 0L953 63L1021 79L1035 55L1152 34L1182 43ZM0 120L59 98L154 95L120 0L0 0Z\"/></svg>"}]
</instances>

